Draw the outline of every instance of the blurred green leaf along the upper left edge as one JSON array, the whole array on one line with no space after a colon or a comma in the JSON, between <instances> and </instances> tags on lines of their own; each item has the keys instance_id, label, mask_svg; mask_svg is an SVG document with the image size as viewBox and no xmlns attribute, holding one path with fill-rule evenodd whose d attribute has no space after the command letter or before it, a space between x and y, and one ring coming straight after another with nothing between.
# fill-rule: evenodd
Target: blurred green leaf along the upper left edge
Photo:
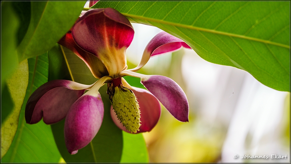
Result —
<instances>
[{"instance_id":1,"label":"blurred green leaf along the upper left edge","mask_svg":"<svg viewBox=\"0 0 291 164\"><path fill-rule=\"evenodd\" d=\"M1 93L5 80L18 66L16 33L19 25L12 2L1 2Z\"/></svg>"}]
</instances>

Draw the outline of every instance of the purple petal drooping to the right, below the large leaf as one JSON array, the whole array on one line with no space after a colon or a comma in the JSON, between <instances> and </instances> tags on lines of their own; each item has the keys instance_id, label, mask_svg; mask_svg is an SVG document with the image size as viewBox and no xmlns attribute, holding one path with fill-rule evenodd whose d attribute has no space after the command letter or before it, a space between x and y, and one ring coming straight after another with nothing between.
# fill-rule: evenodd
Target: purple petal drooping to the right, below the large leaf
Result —
<instances>
[{"instance_id":1,"label":"purple petal drooping to the right, below the large leaf","mask_svg":"<svg viewBox=\"0 0 291 164\"><path fill-rule=\"evenodd\" d=\"M188 121L189 105L186 94L174 80L160 75L141 78L141 83L153 94L166 109L179 121Z\"/></svg>"}]
</instances>

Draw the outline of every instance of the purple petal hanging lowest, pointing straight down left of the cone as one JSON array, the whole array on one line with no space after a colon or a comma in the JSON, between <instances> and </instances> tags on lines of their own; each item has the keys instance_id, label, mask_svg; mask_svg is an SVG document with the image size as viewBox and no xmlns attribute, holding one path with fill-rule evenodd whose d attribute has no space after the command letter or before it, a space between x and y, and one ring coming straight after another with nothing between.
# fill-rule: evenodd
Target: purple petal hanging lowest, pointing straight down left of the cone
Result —
<instances>
[{"instance_id":1,"label":"purple petal hanging lowest, pointing straight down left of the cone","mask_svg":"<svg viewBox=\"0 0 291 164\"><path fill-rule=\"evenodd\" d=\"M89 144L103 121L104 105L100 94L81 96L68 111L65 119L65 144L71 154Z\"/></svg>"}]
</instances>

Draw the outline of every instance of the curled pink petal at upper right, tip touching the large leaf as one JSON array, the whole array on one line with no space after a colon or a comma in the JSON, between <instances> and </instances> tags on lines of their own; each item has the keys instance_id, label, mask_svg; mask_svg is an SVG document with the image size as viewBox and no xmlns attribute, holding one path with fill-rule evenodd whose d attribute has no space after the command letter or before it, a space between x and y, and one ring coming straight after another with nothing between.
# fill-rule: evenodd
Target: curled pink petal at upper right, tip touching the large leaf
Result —
<instances>
[{"instance_id":1,"label":"curled pink petal at upper right, tip touching the large leaf","mask_svg":"<svg viewBox=\"0 0 291 164\"><path fill-rule=\"evenodd\" d=\"M191 49L191 47L183 40L164 31L160 32L154 36L145 47L139 65L136 68L130 70L136 72L148 62L151 56L163 54L166 52L173 52L180 49L181 47Z\"/></svg>"}]
</instances>

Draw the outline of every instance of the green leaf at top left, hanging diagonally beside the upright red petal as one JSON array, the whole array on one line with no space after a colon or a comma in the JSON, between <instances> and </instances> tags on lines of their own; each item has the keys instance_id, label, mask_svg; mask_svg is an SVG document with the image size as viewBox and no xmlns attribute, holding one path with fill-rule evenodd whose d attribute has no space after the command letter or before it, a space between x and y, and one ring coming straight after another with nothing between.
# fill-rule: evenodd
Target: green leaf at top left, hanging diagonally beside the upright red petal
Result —
<instances>
[{"instance_id":1,"label":"green leaf at top left, hanging diagonally beside the upright red petal","mask_svg":"<svg viewBox=\"0 0 291 164\"><path fill-rule=\"evenodd\" d=\"M31 1L31 21L17 48L20 60L51 49L77 20L86 1Z\"/></svg>"}]
</instances>

